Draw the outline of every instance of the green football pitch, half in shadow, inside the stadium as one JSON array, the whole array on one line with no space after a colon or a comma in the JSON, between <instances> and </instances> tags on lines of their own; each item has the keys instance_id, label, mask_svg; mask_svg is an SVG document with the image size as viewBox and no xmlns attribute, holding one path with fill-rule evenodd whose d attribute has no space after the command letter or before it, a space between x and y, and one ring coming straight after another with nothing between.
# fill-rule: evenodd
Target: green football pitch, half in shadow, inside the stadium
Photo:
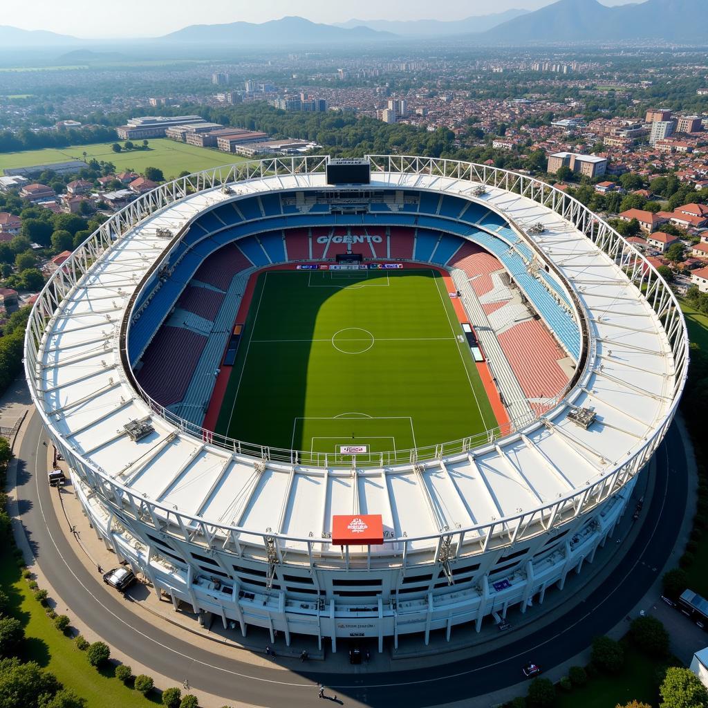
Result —
<instances>
[{"instance_id":1,"label":"green football pitch, half in shadow, inside the stadium","mask_svg":"<svg viewBox=\"0 0 708 708\"><path fill-rule=\"evenodd\" d=\"M345 464L343 446L393 460L495 426L436 271L258 278L217 433Z\"/></svg>"}]
</instances>

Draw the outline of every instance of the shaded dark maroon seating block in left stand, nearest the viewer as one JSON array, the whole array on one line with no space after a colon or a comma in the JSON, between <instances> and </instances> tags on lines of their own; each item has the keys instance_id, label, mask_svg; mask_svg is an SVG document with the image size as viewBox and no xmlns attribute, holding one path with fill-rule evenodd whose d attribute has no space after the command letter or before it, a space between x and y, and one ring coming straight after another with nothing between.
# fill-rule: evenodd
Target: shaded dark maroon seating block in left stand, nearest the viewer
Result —
<instances>
[{"instance_id":1,"label":"shaded dark maroon seating block in left stand, nearest the viewer","mask_svg":"<svg viewBox=\"0 0 708 708\"><path fill-rule=\"evenodd\" d=\"M163 406L181 401L206 343L205 336L188 329L162 327L142 358L138 383Z\"/></svg>"}]
</instances>

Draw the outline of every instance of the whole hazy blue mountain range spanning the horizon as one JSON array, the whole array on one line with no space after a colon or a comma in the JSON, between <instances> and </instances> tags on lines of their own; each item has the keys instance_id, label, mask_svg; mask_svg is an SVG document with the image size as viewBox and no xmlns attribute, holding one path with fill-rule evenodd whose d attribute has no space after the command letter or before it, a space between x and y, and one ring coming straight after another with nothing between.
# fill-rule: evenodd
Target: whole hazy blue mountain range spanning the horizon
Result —
<instances>
[{"instance_id":1,"label":"whole hazy blue mountain range spanning the horizon","mask_svg":"<svg viewBox=\"0 0 708 708\"><path fill-rule=\"evenodd\" d=\"M574 44L654 40L708 44L708 0L645 0L607 7L598 0L559 0L535 12L508 10L486 16L444 22L350 20L325 25L302 17L283 17L260 24L233 22L190 25L156 40L132 40L166 45L275 47L297 44L394 41L406 38L474 38L477 45ZM126 38L127 42L129 38ZM0 25L0 48L86 47L99 40L81 40L43 30ZM111 45L121 42L112 40ZM105 57L102 57L105 60Z\"/></svg>"}]
</instances>

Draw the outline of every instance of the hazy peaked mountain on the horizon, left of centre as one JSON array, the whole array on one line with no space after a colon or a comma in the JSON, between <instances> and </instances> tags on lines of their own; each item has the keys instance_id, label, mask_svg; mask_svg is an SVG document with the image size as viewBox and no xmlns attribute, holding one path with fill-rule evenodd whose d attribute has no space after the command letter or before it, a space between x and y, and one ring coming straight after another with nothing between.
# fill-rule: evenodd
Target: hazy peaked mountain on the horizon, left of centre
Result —
<instances>
[{"instance_id":1,"label":"hazy peaked mountain on the horizon, left of centre","mask_svg":"<svg viewBox=\"0 0 708 708\"><path fill-rule=\"evenodd\" d=\"M165 35L171 42L234 42L234 44L282 45L313 42L352 42L392 39L389 32L368 27L343 28L311 22L302 17L283 17L255 24L232 22L224 25L190 25Z\"/></svg>"}]
</instances>

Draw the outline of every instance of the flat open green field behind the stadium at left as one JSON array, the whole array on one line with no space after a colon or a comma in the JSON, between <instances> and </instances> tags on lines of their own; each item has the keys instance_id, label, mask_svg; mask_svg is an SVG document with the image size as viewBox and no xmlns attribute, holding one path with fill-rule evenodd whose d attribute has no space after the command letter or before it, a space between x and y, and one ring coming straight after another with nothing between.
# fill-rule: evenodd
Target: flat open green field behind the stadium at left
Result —
<instances>
[{"instance_id":1,"label":"flat open green field behind the stadium at left","mask_svg":"<svg viewBox=\"0 0 708 708\"><path fill-rule=\"evenodd\" d=\"M120 142L120 141L117 141ZM142 141L137 141L142 142ZM245 158L217 152L205 147L195 147L182 142L174 142L166 138L149 140L148 150L132 150L113 152L110 149L113 143L100 142L91 145L74 145L55 149L47 147L42 150L28 150L26 152L5 152L0 154L0 170L8 167L31 167L50 162L64 162L67 160L86 160L112 162L119 172L133 170L142 172L146 167L159 167L165 178L176 177L183 171L198 172L210 167L232 164L243 161Z\"/></svg>"}]
</instances>

